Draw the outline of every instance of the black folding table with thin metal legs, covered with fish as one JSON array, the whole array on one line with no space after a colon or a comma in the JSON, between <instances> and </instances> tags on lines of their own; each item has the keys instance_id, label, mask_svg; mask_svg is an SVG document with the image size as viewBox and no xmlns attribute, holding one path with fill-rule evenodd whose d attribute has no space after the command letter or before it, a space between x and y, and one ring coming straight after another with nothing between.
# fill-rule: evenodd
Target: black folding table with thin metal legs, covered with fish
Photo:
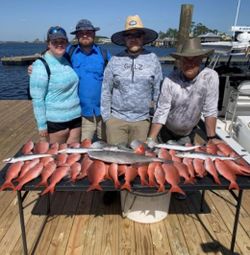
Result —
<instances>
[{"instance_id":1,"label":"black folding table with thin metal legs, covered with fish","mask_svg":"<svg viewBox=\"0 0 250 255\"><path fill-rule=\"evenodd\" d=\"M17 153L18 155L18 153ZM4 183L4 177L5 173L9 167L9 164L5 165L3 169L0 171L0 186ZM212 191L212 190L228 190L229 182L220 176L221 180L221 185L218 185L214 183L212 177L210 176L205 176L202 179L197 178L197 182L195 184L184 184L180 183L180 187L184 191L202 191L201 194L201 203L200 203L200 211L203 211L203 203L205 199L205 191ZM42 187L36 187L36 184L40 181L40 177L30 181L29 183L25 184L22 187L22 190L17 191L17 198L18 198L18 206L19 206L19 216L20 216L20 226L21 226L21 231L22 231L22 242L23 242L23 252L25 255L28 254L28 249L27 249L27 240L26 240L26 230L25 230L25 223L24 223L24 207L23 207L23 201L25 197L27 196L28 192L30 191L42 191ZM240 208L241 208L241 201L242 201L242 195L243 191L245 189L250 189L250 177L246 176L238 176L237 178L237 183L240 187L239 192L235 191L229 191L234 199L236 200L236 211L235 211L235 217L234 217L234 225L233 225L233 232L232 232L232 239L231 239L231 247L230 251L234 251L234 246L235 246L235 241L236 241L236 234L237 234L237 227L238 227L238 222L239 222L239 214L240 214ZM110 180L105 180L101 183L101 186L104 191L115 191L115 187ZM71 183L69 180L62 180L56 185L55 191L86 191L89 187L89 182L85 178L83 180L79 180L76 183ZM166 189L170 189L170 185L166 184L165 185ZM149 192L149 191L156 191L156 188L151 188L147 186L142 186L140 184L140 179L137 177L134 182L132 183L132 190L136 192ZM49 216L50 213L50 195L49 193L46 195L47 196L47 217ZM41 227L39 235L42 233L45 224L46 224L47 218L44 220L44 223ZM37 238L38 239L38 238Z\"/></svg>"}]
</instances>

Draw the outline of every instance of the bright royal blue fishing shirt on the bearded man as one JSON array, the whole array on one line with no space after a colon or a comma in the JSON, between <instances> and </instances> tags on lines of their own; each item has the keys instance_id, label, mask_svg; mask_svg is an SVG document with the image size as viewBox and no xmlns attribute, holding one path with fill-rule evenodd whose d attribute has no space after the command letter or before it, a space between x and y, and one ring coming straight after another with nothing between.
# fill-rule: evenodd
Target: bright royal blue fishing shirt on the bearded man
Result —
<instances>
[{"instance_id":1,"label":"bright royal blue fishing shirt on the bearded man","mask_svg":"<svg viewBox=\"0 0 250 255\"><path fill-rule=\"evenodd\" d=\"M107 60L110 59L107 51ZM85 53L78 45L71 56L72 67L77 73L81 112L84 117L100 116L100 101L105 61L100 47L93 45L90 53Z\"/></svg>"}]
</instances>

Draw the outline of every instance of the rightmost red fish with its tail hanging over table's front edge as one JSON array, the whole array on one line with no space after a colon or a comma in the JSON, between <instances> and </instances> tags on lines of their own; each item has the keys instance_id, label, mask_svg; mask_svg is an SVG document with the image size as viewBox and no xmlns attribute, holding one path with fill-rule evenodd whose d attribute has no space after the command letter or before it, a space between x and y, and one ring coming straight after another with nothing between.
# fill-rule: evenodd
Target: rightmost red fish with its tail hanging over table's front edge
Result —
<instances>
[{"instance_id":1,"label":"rightmost red fish with its tail hanging over table's front edge","mask_svg":"<svg viewBox=\"0 0 250 255\"><path fill-rule=\"evenodd\" d=\"M216 159L215 167L218 172L228 181L230 181L229 189L237 189L240 190L239 185L236 182L235 173L227 167L227 165L223 162L223 160Z\"/></svg>"}]
</instances>

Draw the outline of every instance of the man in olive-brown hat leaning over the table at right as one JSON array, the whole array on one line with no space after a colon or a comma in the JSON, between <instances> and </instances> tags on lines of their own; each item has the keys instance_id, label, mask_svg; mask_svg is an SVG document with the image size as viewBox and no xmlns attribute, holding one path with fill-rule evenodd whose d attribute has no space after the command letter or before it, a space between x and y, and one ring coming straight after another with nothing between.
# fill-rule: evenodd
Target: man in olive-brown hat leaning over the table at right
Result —
<instances>
[{"instance_id":1,"label":"man in olive-brown hat leaning over the table at right","mask_svg":"<svg viewBox=\"0 0 250 255\"><path fill-rule=\"evenodd\" d=\"M181 52L171 54L179 68L164 79L148 143L156 141L159 133L162 142L193 143L201 114L208 140L216 141L219 78L216 71L202 67L202 59L212 53L202 49L199 38L190 38Z\"/></svg>"}]
</instances>

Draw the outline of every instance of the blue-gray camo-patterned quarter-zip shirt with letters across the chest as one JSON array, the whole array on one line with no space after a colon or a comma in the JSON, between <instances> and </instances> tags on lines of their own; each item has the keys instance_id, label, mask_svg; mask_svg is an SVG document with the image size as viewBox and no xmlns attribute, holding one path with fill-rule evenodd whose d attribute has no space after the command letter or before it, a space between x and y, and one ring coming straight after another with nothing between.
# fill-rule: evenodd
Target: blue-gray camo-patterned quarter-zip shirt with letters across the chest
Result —
<instances>
[{"instance_id":1,"label":"blue-gray camo-patterned quarter-zip shirt with letters across the chest","mask_svg":"<svg viewBox=\"0 0 250 255\"><path fill-rule=\"evenodd\" d=\"M158 57L147 50L133 58L126 51L109 61L102 84L101 115L125 121L149 118L151 103L157 102L162 70Z\"/></svg>"}]
</instances>

